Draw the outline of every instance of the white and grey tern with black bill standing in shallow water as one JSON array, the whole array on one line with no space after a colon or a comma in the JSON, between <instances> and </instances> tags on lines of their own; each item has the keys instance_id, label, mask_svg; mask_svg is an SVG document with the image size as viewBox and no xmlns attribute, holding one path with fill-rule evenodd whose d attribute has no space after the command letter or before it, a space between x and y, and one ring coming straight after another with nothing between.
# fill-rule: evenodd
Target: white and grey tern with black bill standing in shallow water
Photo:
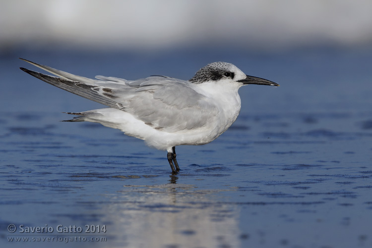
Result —
<instances>
[{"instance_id":1,"label":"white and grey tern with black bill standing in shallow water","mask_svg":"<svg viewBox=\"0 0 372 248\"><path fill-rule=\"evenodd\" d=\"M267 79L246 75L228 62L211 62L189 80L162 75L126 80L112 76L92 79L21 60L54 76L20 67L28 74L108 107L63 112L77 116L65 122L99 123L142 139L150 147L165 150L172 174L180 171L176 146L207 144L236 121L241 110L240 87L279 86Z\"/></svg>"}]
</instances>

